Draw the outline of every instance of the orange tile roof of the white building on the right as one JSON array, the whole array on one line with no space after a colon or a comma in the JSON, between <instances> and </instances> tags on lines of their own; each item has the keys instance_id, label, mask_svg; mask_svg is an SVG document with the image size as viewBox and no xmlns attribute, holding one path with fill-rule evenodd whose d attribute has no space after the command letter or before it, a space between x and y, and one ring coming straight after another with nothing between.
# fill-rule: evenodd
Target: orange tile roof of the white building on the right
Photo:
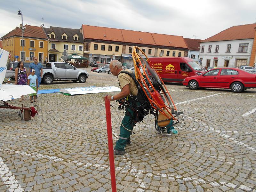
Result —
<instances>
[{"instance_id":1,"label":"orange tile roof of the white building on the right","mask_svg":"<svg viewBox=\"0 0 256 192\"><path fill-rule=\"evenodd\" d=\"M233 26L201 42L253 39L255 27L256 23Z\"/></svg>"}]
</instances>

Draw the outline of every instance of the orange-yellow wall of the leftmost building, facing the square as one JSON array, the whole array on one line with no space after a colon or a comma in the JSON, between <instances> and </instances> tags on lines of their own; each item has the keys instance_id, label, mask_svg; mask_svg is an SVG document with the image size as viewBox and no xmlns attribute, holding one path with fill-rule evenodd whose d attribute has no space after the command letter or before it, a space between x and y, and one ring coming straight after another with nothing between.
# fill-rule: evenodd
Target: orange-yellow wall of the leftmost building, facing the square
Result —
<instances>
[{"instance_id":1,"label":"orange-yellow wall of the leftmost building, facing the square","mask_svg":"<svg viewBox=\"0 0 256 192\"><path fill-rule=\"evenodd\" d=\"M48 52L48 45L47 40L41 40L41 39L33 39L33 38L23 38L25 40L24 44L24 52L25 52L25 62L31 62L30 60L30 52L34 52L34 56L37 56L39 59L39 52L43 53L43 61L47 59L47 52ZM14 37L14 55L18 55L18 61L20 61L20 52L22 52L22 46L20 46L20 40L22 40L21 37ZM34 41L34 47L30 47L30 40ZM39 47L39 42L43 42L43 48ZM29 48L35 49L35 50L29 50ZM14 58L15 60L15 58Z\"/></svg>"}]
</instances>

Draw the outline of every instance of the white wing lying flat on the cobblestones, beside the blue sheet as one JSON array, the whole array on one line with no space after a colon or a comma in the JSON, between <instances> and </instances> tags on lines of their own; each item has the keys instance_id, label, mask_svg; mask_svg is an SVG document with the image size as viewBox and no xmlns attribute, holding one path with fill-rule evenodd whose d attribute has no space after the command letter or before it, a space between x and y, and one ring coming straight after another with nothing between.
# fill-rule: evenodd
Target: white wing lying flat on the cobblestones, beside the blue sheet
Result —
<instances>
[{"instance_id":1,"label":"white wing lying flat on the cobblestones, beside the blue sheet","mask_svg":"<svg viewBox=\"0 0 256 192\"><path fill-rule=\"evenodd\" d=\"M60 89L62 93L68 93L70 95L88 94L88 93L104 93L104 92L115 92L121 91L119 87L115 86L104 86L104 87L76 87L68 89Z\"/></svg>"}]
</instances>

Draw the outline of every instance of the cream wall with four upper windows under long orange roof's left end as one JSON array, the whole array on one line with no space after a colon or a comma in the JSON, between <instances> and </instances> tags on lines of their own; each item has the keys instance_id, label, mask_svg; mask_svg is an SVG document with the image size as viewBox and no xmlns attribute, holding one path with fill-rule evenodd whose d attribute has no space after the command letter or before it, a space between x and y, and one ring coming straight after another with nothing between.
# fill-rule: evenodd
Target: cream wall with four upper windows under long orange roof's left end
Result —
<instances>
[{"instance_id":1,"label":"cream wall with four upper windows under long orange roof's left end","mask_svg":"<svg viewBox=\"0 0 256 192\"><path fill-rule=\"evenodd\" d=\"M94 50L94 44L98 44L98 50ZM101 45L105 45L105 51L101 51ZM108 45L112 45L112 51L108 51ZM116 46L119 47L118 52L116 52ZM100 54L100 55L112 55L113 53L115 53L115 56L122 56L122 49L123 49L123 45L119 45L119 44L106 44L106 43L91 42L90 53Z\"/></svg>"}]
</instances>

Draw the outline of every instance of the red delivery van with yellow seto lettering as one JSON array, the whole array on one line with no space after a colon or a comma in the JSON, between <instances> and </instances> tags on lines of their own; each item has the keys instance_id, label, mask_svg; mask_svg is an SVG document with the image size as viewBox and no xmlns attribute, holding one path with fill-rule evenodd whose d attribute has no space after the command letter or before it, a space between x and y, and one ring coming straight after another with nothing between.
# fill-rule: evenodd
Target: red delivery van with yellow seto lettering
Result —
<instances>
[{"instance_id":1,"label":"red delivery van with yellow seto lettering","mask_svg":"<svg viewBox=\"0 0 256 192\"><path fill-rule=\"evenodd\" d=\"M189 57L152 57L149 60L164 82L182 83L186 77L204 73L203 69Z\"/></svg>"}]
</instances>

